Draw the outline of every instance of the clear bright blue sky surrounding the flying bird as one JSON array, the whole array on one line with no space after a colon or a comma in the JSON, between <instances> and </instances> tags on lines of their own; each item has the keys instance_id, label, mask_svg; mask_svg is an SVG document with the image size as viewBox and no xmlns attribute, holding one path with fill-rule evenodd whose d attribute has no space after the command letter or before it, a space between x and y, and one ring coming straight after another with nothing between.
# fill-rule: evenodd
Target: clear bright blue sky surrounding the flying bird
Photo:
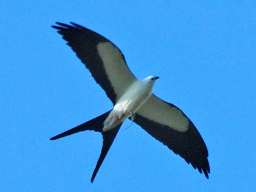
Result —
<instances>
[{"instance_id":1,"label":"clear bright blue sky surrounding the flying bird","mask_svg":"<svg viewBox=\"0 0 256 192\"><path fill-rule=\"evenodd\" d=\"M256 191L255 1L13 1L0 5L0 191ZM190 117L210 179L141 127L120 131L94 183L102 138L52 136L112 108L50 26L82 24ZM128 127L126 121L121 129Z\"/></svg>"}]
</instances>

